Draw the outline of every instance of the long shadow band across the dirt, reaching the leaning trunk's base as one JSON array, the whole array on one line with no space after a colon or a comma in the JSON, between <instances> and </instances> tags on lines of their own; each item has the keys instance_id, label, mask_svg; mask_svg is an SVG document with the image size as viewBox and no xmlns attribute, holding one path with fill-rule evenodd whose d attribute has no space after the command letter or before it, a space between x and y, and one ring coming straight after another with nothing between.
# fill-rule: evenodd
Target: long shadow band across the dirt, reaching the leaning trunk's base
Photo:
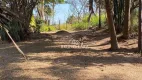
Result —
<instances>
[{"instance_id":1,"label":"long shadow band across the dirt, reaching the leaning trunk's base","mask_svg":"<svg viewBox=\"0 0 142 80\"><path fill-rule=\"evenodd\" d=\"M97 46L104 46L107 45L109 42L106 42L101 45ZM103 52L120 52L120 53L128 53L128 52L135 52L137 51L137 48L120 48L119 50L115 51L109 51L108 49L102 49L102 50L95 50L91 48L62 48L59 44L54 44L51 41L45 41L45 39L41 39L38 41L34 41L32 43L18 43L20 45L20 48L26 53L47 53L47 52L56 52L56 53L86 53L86 52L93 52L93 53L103 53ZM8 46L8 45L7 45ZM0 51L2 53L6 54L19 54L19 52L15 49L15 47L4 47L1 48Z\"/></svg>"}]
</instances>

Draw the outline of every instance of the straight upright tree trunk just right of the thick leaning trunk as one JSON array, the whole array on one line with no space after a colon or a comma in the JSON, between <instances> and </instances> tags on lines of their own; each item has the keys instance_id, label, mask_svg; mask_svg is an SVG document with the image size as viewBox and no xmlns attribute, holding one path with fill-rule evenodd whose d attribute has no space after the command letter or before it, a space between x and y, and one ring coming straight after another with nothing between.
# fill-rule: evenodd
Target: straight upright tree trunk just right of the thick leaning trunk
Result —
<instances>
[{"instance_id":1,"label":"straight upright tree trunk just right of the thick leaning trunk","mask_svg":"<svg viewBox=\"0 0 142 80\"><path fill-rule=\"evenodd\" d=\"M124 16L124 29L123 29L123 38L129 38L129 29L130 29L130 4L131 0L125 0L125 16Z\"/></svg>"}]
</instances>

